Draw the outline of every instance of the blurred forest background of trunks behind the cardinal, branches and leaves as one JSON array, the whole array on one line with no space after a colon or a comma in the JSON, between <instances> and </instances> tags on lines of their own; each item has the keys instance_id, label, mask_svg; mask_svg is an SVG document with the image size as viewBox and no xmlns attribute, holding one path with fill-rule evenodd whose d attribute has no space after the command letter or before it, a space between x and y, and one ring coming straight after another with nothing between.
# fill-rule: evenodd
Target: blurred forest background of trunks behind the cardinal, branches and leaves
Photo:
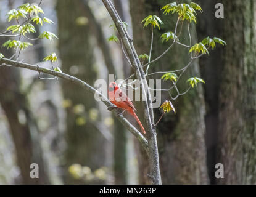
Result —
<instances>
[{"instance_id":1,"label":"blurred forest background of trunks behind the cardinal, branches and leaves","mask_svg":"<svg viewBox=\"0 0 256 197\"><path fill-rule=\"evenodd\" d=\"M9 26L8 10L36 1L1 0L1 32ZM174 29L176 17L163 15L160 8L173 1L113 2L129 24L138 54L149 52L151 34L141 24L149 14L164 23L154 31L152 56L167 49L160 35ZM177 114L164 116L157 126L162 182L255 184L256 2L222 0L225 18L215 17L218 1L194 2L204 12L192 25L192 43L217 36L228 45L194 62L184 78L195 74L206 83L173 102ZM51 68L42 60L56 52L56 66L91 85L99 78L107 80L108 74L130 76L120 44L107 41L115 31L109 28L113 22L101 1L43 0L41 7L55 25L35 25L35 37L46 28L59 39L33 42L20 60ZM0 44L7 39L0 37ZM180 40L189 43L186 28ZM13 54L0 50L7 58ZM151 71L181 68L188 58L188 50L175 46ZM168 86L162 82L162 87ZM163 92L162 101L167 97ZM147 158L137 140L80 87L61 79L40 80L34 71L1 67L0 106L0 184L148 183ZM155 108L155 119L160 115ZM39 164L39 179L30 178L31 163ZM224 179L215 178L217 163L224 165Z\"/></svg>"}]
</instances>

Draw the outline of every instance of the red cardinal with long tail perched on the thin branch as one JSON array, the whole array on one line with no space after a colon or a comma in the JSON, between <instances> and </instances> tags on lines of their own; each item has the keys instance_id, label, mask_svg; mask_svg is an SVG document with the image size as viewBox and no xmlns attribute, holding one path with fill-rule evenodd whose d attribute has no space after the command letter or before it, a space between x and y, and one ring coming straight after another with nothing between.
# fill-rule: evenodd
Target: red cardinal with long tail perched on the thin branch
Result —
<instances>
[{"instance_id":1,"label":"red cardinal with long tail perched on the thin branch","mask_svg":"<svg viewBox=\"0 0 256 197\"><path fill-rule=\"evenodd\" d=\"M134 112L136 111L133 103L131 102L130 98L123 92L118 86L117 83L115 82L110 82L109 84L109 100L112 102L114 105L116 105L118 108L122 108L127 110L134 118L136 121L139 123L139 126L141 127L141 130L143 131L144 134L146 134L144 127L141 124L141 121L139 121L138 116Z\"/></svg>"}]
</instances>

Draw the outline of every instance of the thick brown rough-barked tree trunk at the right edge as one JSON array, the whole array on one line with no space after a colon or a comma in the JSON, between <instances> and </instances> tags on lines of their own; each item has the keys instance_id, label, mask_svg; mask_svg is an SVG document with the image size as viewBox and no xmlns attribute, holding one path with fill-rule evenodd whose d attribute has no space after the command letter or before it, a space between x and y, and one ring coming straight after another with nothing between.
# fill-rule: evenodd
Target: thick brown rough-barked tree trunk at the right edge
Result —
<instances>
[{"instance_id":1,"label":"thick brown rough-barked tree trunk at the right edge","mask_svg":"<svg viewBox=\"0 0 256 197\"><path fill-rule=\"evenodd\" d=\"M227 42L220 86L218 163L224 179L217 183L256 183L256 4L223 1Z\"/></svg>"}]
</instances>

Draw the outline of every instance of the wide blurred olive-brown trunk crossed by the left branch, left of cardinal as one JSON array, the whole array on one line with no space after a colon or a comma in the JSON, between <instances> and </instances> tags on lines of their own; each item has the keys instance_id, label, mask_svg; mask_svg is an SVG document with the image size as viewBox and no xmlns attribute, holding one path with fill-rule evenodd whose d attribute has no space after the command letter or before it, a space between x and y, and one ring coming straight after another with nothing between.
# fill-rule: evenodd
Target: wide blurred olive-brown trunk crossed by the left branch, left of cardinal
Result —
<instances>
[{"instance_id":1,"label":"wide blurred olive-brown trunk crossed by the left branch, left of cardinal","mask_svg":"<svg viewBox=\"0 0 256 197\"><path fill-rule=\"evenodd\" d=\"M93 46L90 41L89 26L86 22L81 23L83 20L78 18L81 16L83 14L78 4L74 4L71 0L57 1L62 70L93 85L94 79L96 79ZM96 121L90 115L91 112L94 112L99 121L100 113L95 108L97 103L94 100L94 95L77 89L74 84L67 81L62 81L62 89L65 100L71 102L70 107L67 107L65 166L78 163L90 167L93 171L105 166L106 140L97 129ZM78 112L75 109L78 109ZM67 183L77 183L73 179L66 181ZM104 181L94 183L104 183Z\"/></svg>"}]
</instances>

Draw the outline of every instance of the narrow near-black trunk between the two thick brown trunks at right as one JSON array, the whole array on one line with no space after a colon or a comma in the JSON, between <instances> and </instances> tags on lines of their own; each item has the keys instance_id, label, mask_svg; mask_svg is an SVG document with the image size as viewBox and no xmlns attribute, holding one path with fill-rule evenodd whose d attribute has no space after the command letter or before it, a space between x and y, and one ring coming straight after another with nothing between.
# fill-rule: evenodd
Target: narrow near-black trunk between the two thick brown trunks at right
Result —
<instances>
[{"instance_id":1,"label":"narrow near-black trunk between the two thick brown trunks at right","mask_svg":"<svg viewBox=\"0 0 256 197\"><path fill-rule=\"evenodd\" d=\"M199 15L197 35L199 41L210 36L213 38L223 38L223 19L215 17L215 4L219 1L200 1L200 6L204 10ZM210 24L210 25L209 25ZM210 51L210 57L203 56L200 58L200 71L202 78L206 81L204 84L204 98L206 105L205 127L207 145L207 167L210 177L210 183L215 183L215 164L217 154L218 139L218 116L219 116L219 91L220 91L220 72L223 67L223 49Z\"/></svg>"}]
</instances>

